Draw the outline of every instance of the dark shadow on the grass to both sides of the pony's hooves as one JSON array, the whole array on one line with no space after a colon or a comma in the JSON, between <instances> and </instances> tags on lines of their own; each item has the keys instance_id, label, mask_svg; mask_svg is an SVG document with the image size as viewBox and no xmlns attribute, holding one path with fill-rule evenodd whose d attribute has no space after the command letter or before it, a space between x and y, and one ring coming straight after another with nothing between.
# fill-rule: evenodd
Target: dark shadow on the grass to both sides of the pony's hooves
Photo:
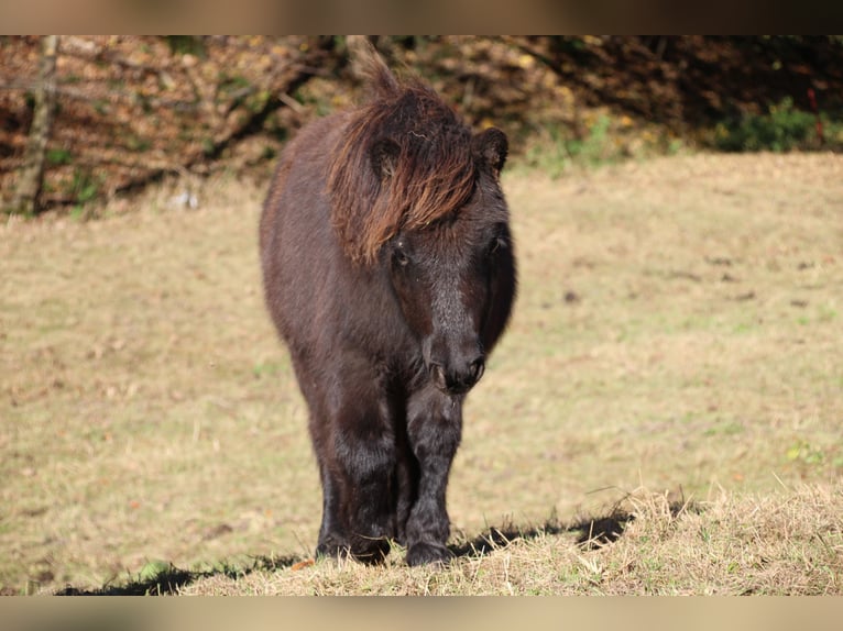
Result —
<instances>
[{"instance_id":1,"label":"dark shadow on the grass to both sides of the pony's hooves","mask_svg":"<svg viewBox=\"0 0 843 631\"><path fill-rule=\"evenodd\" d=\"M676 517L688 506L681 501L670 502L670 513ZM506 524L501 528L490 528L471 540L451 543L448 549L455 557L477 557L501 550L513 541L532 540L540 536L576 535L578 545L593 550L609 545L623 535L626 525L635 519L632 512L615 506L607 516L584 518L572 523L561 523L551 517L544 524L523 528ZM153 577L130 582L123 585L106 585L94 590L78 589L67 586L56 593L56 596L166 596L177 594L180 587L195 580L210 576L228 576L239 578L252 572L273 572L291 568L298 563L309 563L302 556L255 557L248 567L221 567L207 571L190 572L171 566Z\"/></svg>"}]
</instances>

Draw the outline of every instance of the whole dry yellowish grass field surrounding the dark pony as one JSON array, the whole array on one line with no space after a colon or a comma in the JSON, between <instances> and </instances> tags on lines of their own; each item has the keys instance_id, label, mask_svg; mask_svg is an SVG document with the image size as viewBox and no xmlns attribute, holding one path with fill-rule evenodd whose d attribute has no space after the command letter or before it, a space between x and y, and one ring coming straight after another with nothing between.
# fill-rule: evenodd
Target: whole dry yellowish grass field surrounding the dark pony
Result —
<instances>
[{"instance_id":1,"label":"whole dry yellowish grass field surrounding the dark pony","mask_svg":"<svg viewBox=\"0 0 843 631\"><path fill-rule=\"evenodd\" d=\"M521 291L469 397L446 571L293 565L320 497L261 190L0 228L2 593L843 594L843 158L504 188ZM609 516L623 535L578 543Z\"/></svg>"}]
</instances>

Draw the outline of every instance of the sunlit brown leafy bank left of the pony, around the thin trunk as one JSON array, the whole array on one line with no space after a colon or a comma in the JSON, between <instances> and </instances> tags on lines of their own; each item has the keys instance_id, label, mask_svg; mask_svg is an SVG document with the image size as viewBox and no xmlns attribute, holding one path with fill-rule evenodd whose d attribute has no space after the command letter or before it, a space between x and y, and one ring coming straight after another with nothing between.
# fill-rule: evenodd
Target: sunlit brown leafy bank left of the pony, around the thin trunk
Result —
<instances>
[{"instance_id":1,"label":"sunlit brown leafy bank left of the pony, around the thin trunk","mask_svg":"<svg viewBox=\"0 0 843 631\"><path fill-rule=\"evenodd\" d=\"M33 103L21 97L36 81L37 44L14 37L0 48L2 190L20 169L31 128ZM287 114L275 126L294 126L276 96L318 71L324 45L292 36L61 36L40 207L84 204L167 174L230 166L229 150L261 133L273 113ZM98 174L96 191L79 185L79 165Z\"/></svg>"}]
</instances>

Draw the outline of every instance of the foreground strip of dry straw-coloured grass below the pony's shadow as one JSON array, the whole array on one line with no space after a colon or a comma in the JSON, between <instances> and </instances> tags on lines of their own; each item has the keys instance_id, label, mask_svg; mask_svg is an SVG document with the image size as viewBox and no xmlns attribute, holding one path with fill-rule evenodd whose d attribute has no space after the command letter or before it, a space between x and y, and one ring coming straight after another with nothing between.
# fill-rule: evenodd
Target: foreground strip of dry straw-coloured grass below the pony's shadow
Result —
<instances>
[{"instance_id":1,"label":"foreground strip of dry straw-coloured grass below the pony's shadow","mask_svg":"<svg viewBox=\"0 0 843 631\"><path fill-rule=\"evenodd\" d=\"M188 584L188 595L829 595L843 579L843 489L677 503L637 489L632 521L615 542L514 536L446 569L322 561L302 568L223 575ZM398 551L401 552L401 551Z\"/></svg>"}]
</instances>

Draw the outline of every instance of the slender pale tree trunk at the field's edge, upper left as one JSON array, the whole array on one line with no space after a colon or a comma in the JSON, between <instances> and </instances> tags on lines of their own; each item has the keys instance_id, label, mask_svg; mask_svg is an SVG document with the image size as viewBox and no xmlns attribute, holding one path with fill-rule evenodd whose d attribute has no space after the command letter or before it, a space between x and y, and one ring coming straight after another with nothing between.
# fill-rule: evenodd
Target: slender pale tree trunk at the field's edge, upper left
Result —
<instances>
[{"instance_id":1,"label":"slender pale tree trunk at the field's edge, upper left","mask_svg":"<svg viewBox=\"0 0 843 631\"><path fill-rule=\"evenodd\" d=\"M44 177L47 141L53 124L53 111L56 100L56 56L58 36L45 35L41 41L41 64L39 82L35 87L35 107L32 114L32 126L26 150L23 155L23 166L18 171L18 186L10 203L13 213L35 214L39 210L39 196Z\"/></svg>"}]
</instances>

